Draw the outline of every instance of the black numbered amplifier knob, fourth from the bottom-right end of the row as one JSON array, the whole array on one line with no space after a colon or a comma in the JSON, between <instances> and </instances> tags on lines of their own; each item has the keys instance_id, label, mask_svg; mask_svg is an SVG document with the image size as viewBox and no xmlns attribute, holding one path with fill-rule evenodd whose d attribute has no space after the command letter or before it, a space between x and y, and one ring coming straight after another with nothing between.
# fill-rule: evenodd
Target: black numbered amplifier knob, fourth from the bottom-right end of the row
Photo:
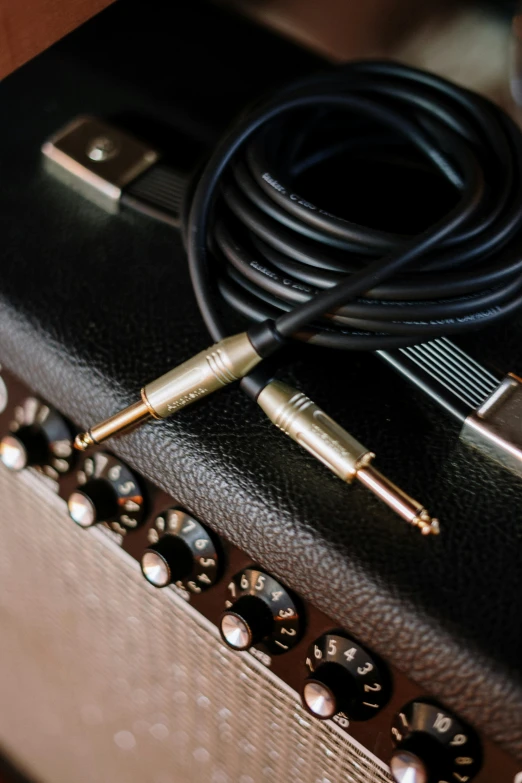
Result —
<instances>
[{"instance_id":1,"label":"black numbered amplifier knob, fourth from the bottom-right end of the row","mask_svg":"<svg viewBox=\"0 0 522 783\"><path fill-rule=\"evenodd\" d=\"M220 558L212 534L177 508L169 508L149 530L150 546L141 558L145 579L154 587L174 583L191 593L201 593L219 578Z\"/></svg>"}]
</instances>

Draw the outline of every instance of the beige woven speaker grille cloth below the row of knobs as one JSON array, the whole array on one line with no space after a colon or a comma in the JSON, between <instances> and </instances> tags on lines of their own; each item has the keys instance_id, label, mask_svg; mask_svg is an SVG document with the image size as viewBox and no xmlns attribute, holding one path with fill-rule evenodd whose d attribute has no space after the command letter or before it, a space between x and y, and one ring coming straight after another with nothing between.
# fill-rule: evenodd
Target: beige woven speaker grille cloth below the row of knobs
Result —
<instances>
[{"instance_id":1,"label":"beige woven speaker grille cloth below the row of knobs","mask_svg":"<svg viewBox=\"0 0 522 783\"><path fill-rule=\"evenodd\" d=\"M389 783L44 479L0 470L0 745L43 783Z\"/></svg>"}]
</instances>

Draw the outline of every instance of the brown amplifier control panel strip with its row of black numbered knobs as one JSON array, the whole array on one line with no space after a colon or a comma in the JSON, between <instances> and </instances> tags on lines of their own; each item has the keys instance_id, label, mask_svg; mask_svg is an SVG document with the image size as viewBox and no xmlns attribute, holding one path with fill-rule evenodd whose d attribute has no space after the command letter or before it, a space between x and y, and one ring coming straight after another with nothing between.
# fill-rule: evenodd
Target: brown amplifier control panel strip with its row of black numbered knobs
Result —
<instances>
[{"instance_id":1,"label":"brown amplifier control panel strip with its row of black numbered knobs","mask_svg":"<svg viewBox=\"0 0 522 783\"><path fill-rule=\"evenodd\" d=\"M77 456L75 427L11 375L1 377L4 467L37 470L54 482L71 524L101 526L140 563L150 585L190 602L224 644L253 655L299 693L314 719L348 732L389 765L397 783L520 783L522 763L364 639L337 627L110 451Z\"/></svg>"}]
</instances>

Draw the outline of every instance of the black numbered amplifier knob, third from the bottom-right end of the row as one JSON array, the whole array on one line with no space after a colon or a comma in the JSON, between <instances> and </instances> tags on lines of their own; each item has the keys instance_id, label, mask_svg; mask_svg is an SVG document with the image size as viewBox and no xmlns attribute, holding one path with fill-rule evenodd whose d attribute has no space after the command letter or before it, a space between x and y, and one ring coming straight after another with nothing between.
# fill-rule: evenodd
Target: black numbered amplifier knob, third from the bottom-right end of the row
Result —
<instances>
[{"instance_id":1,"label":"black numbered amplifier knob, third from the bottom-right end of the row","mask_svg":"<svg viewBox=\"0 0 522 783\"><path fill-rule=\"evenodd\" d=\"M302 619L290 593L263 571L246 568L228 585L230 600L220 623L221 636L233 650L262 643L272 655L299 640Z\"/></svg>"}]
</instances>

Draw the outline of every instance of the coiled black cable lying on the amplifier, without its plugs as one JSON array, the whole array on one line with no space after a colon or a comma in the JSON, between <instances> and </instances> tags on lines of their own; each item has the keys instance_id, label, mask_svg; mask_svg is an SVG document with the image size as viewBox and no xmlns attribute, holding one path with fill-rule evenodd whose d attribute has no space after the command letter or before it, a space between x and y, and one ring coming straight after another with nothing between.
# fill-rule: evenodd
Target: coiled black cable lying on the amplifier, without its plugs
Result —
<instances>
[{"instance_id":1,"label":"coiled black cable lying on the amplifier, without its plugs","mask_svg":"<svg viewBox=\"0 0 522 783\"><path fill-rule=\"evenodd\" d=\"M447 183L444 214L418 233L296 192L325 162L384 153L399 176L414 160L428 190L430 172ZM521 177L515 123L432 74L368 61L287 87L237 123L195 188L185 242L205 323L227 334L223 302L274 322L265 353L278 336L377 350L486 326L522 305Z\"/></svg>"}]
</instances>

